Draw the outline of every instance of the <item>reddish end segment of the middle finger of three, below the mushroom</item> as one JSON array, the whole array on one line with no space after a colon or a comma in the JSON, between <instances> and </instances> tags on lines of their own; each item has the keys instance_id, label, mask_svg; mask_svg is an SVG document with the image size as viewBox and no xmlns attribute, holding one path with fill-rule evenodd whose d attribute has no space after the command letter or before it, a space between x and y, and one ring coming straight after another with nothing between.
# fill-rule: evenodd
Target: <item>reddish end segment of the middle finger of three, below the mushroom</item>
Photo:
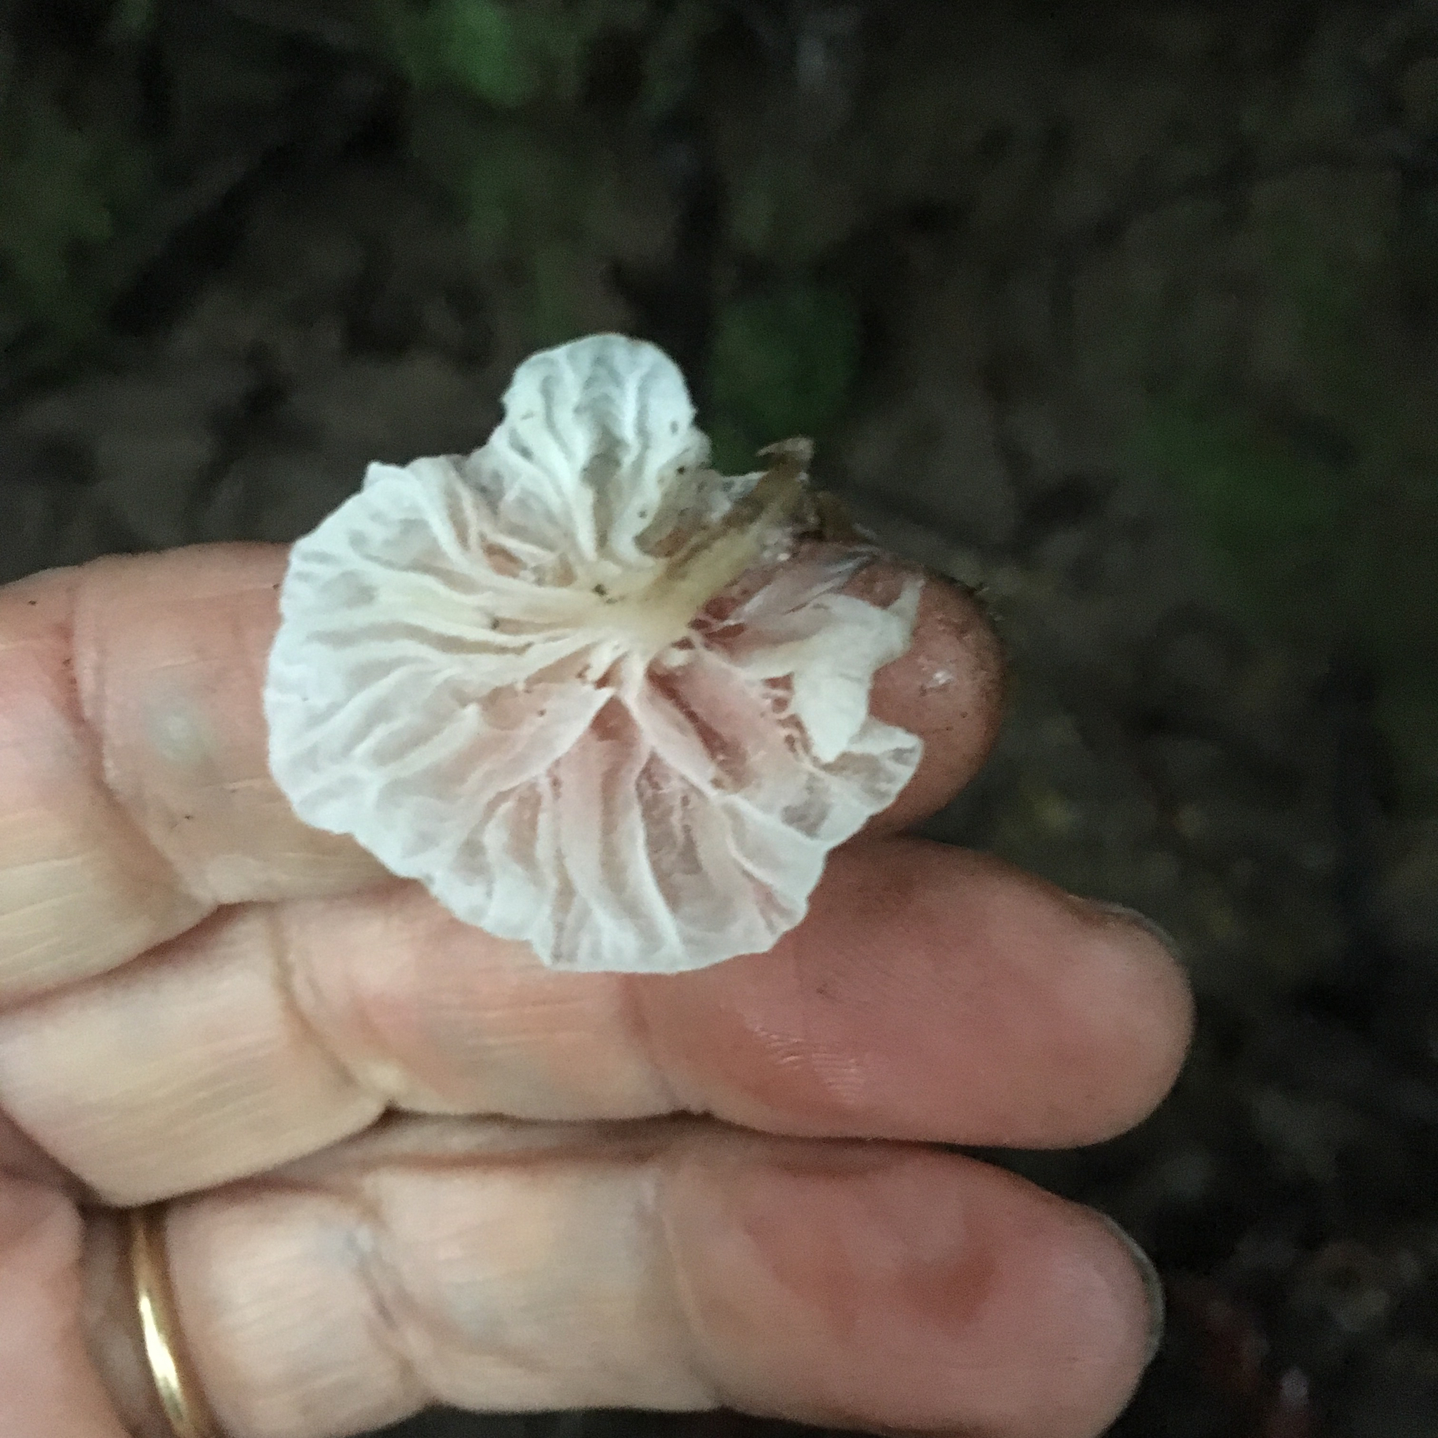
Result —
<instances>
[{"instance_id":1,"label":"reddish end segment of the middle finger of three, below the mushroom","mask_svg":"<svg viewBox=\"0 0 1438 1438\"><path fill-rule=\"evenodd\" d=\"M984 854L887 838L833 857L769 953L644 991L686 1103L788 1133L1097 1143L1186 1054L1183 969L1123 915Z\"/></svg>"}]
</instances>

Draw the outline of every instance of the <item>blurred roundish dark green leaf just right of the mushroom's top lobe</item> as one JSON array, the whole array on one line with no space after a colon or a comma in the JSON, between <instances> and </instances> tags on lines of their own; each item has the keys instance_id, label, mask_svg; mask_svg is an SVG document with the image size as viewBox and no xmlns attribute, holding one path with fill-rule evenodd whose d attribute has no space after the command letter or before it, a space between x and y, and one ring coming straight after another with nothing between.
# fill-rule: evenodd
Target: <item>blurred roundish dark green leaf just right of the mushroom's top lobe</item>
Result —
<instances>
[{"instance_id":1,"label":"blurred roundish dark green leaf just right of the mushroom's top lobe","mask_svg":"<svg viewBox=\"0 0 1438 1438\"><path fill-rule=\"evenodd\" d=\"M794 282L722 306L710 354L715 453L743 469L764 444L821 434L858 368L858 316L838 290Z\"/></svg>"}]
</instances>

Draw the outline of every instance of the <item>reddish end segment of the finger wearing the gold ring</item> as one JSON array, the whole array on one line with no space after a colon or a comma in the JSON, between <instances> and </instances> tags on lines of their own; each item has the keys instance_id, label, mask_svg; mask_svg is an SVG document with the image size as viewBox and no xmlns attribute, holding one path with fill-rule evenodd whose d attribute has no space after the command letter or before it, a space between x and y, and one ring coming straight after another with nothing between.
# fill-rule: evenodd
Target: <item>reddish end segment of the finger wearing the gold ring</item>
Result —
<instances>
[{"instance_id":1,"label":"reddish end segment of the finger wearing the gold ring","mask_svg":"<svg viewBox=\"0 0 1438 1438\"><path fill-rule=\"evenodd\" d=\"M1153 1309L1102 1215L952 1155L703 1158L664 1209L723 1402L866 1431L1090 1438L1132 1396Z\"/></svg>"}]
</instances>

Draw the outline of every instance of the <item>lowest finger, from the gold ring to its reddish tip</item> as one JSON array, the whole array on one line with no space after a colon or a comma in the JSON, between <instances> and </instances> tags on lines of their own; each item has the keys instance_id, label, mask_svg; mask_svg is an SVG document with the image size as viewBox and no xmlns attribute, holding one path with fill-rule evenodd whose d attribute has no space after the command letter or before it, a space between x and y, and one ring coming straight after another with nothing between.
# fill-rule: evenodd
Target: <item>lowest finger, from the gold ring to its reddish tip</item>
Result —
<instances>
[{"instance_id":1,"label":"lowest finger, from the gold ring to its reddish tip","mask_svg":"<svg viewBox=\"0 0 1438 1438\"><path fill-rule=\"evenodd\" d=\"M421 1123L184 1202L168 1254L232 1438L436 1401L1081 1438L1132 1392L1153 1322L1103 1221L1021 1179L732 1130L506 1145Z\"/></svg>"}]
</instances>

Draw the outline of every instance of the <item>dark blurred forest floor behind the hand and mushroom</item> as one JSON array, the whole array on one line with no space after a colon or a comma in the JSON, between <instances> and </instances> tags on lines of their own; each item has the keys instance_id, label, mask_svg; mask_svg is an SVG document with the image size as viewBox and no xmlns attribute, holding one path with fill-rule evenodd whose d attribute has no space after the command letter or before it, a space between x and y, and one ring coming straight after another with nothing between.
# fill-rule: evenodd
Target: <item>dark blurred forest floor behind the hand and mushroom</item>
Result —
<instances>
[{"instance_id":1,"label":"dark blurred forest floor behind the hand and mushroom","mask_svg":"<svg viewBox=\"0 0 1438 1438\"><path fill-rule=\"evenodd\" d=\"M1117 1434L1438 1434L1438 4L0 0L0 580L293 538L615 328L989 605L932 831L1192 972L1156 1117L997 1156L1163 1271Z\"/></svg>"}]
</instances>

